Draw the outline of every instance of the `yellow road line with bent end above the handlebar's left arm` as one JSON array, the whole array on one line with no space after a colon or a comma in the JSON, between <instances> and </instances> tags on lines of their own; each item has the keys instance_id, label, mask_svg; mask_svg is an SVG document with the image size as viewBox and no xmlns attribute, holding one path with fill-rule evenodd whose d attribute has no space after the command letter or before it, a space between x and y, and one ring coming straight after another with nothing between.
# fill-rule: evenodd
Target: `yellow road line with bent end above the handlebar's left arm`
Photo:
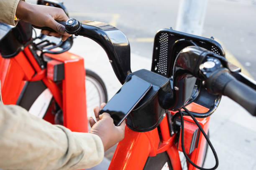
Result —
<instances>
[{"instance_id":1,"label":"yellow road line with bent end above the handlebar's left arm","mask_svg":"<svg viewBox=\"0 0 256 170\"><path fill-rule=\"evenodd\" d=\"M74 17L102 17L102 16L111 17L109 24L113 25L114 27L116 27L117 21L120 18L120 15L115 14L115 13L75 13L75 12L70 12L69 15L74 16ZM84 18L84 19L87 19L87 18Z\"/></svg>"}]
</instances>

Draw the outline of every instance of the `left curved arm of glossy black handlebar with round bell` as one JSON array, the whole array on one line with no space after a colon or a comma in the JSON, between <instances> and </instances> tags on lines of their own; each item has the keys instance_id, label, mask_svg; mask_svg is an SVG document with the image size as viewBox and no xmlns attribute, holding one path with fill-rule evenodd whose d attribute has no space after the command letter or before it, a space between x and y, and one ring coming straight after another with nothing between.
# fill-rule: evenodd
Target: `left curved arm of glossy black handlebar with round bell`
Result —
<instances>
[{"instance_id":1,"label":"left curved arm of glossy black handlebar with round bell","mask_svg":"<svg viewBox=\"0 0 256 170\"><path fill-rule=\"evenodd\" d=\"M82 35L88 37L103 47L108 55L116 77L123 84L126 77L131 73L130 44L127 37L112 25L97 21L77 21L69 19L65 22L57 21L65 25L65 30L69 34ZM47 27L37 27L41 30L54 31Z\"/></svg>"}]
</instances>

